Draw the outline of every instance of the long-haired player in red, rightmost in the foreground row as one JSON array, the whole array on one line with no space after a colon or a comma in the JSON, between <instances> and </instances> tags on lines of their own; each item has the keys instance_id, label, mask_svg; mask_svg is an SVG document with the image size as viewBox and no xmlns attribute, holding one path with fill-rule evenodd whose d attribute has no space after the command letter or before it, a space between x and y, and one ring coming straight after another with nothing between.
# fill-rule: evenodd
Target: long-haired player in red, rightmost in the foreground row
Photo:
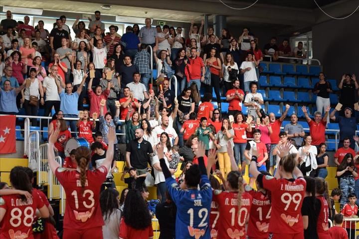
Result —
<instances>
[{"instance_id":1,"label":"long-haired player in red, rightmost in the foreground row","mask_svg":"<svg viewBox=\"0 0 359 239\"><path fill-rule=\"evenodd\" d=\"M329 193L328 193L328 183L324 180L324 178L316 177L316 197L319 199L321 203L321 209L318 215L317 221L317 234L320 239L331 239L329 234L329 208L331 208ZM326 198L324 195L327 195Z\"/></svg>"}]
</instances>

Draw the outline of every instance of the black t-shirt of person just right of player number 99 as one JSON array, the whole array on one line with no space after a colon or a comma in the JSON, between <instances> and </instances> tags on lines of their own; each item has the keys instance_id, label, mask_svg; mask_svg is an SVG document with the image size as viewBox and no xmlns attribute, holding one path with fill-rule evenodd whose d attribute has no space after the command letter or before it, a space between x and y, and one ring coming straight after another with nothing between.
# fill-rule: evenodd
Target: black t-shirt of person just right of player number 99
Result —
<instances>
[{"instance_id":1,"label":"black t-shirt of person just right of player number 99","mask_svg":"<svg viewBox=\"0 0 359 239\"><path fill-rule=\"evenodd\" d=\"M319 199L313 199L313 197L305 197L303 199L302 216L308 216L308 228L304 230L305 239L318 239L317 221L320 209L321 203Z\"/></svg>"}]
</instances>

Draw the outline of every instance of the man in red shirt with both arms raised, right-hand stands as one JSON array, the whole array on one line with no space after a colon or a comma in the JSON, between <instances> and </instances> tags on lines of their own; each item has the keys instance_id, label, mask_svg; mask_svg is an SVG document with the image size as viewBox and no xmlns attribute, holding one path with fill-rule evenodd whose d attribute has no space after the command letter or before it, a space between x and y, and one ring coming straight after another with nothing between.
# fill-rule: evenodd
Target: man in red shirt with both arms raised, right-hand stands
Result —
<instances>
[{"instance_id":1,"label":"man in red shirt with both arms raised, right-hand stands","mask_svg":"<svg viewBox=\"0 0 359 239\"><path fill-rule=\"evenodd\" d=\"M312 120L308 116L307 108L305 106L302 107L302 111L304 113L305 118L309 124L309 133L312 137L312 145L318 146L321 143L325 142L325 129L327 125L327 118L329 114L330 106L327 107L324 118L322 119L322 113L315 112L314 120Z\"/></svg>"}]
</instances>

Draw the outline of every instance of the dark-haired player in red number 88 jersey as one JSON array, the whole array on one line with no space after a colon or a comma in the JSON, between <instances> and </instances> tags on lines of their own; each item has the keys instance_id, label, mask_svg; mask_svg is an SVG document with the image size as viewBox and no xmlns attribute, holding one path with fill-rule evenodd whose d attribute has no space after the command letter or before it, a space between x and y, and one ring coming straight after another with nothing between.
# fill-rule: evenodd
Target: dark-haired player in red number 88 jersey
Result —
<instances>
[{"instance_id":1,"label":"dark-haired player in red number 88 jersey","mask_svg":"<svg viewBox=\"0 0 359 239\"><path fill-rule=\"evenodd\" d=\"M55 141L56 139L57 137ZM36 210L39 210L39 216L42 218L48 218L49 211L38 193L32 190L23 167L16 166L11 169L10 182L14 189L27 191L32 197L26 198L17 194L0 197L0 238L33 239L32 222Z\"/></svg>"}]
</instances>

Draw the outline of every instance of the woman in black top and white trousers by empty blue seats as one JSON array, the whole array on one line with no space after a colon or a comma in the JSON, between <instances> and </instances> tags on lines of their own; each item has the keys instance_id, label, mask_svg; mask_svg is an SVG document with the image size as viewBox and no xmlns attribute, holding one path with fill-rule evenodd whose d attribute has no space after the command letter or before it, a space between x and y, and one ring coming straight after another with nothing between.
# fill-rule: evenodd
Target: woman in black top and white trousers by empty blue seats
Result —
<instances>
[{"instance_id":1,"label":"woman in black top and white trousers by empty blue seats","mask_svg":"<svg viewBox=\"0 0 359 239\"><path fill-rule=\"evenodd\" d=\"M315 84L313 93L317 94L317 110L322 113L323 110L327 109L330 106L329 93L332 93L332 85L327 81L324 72L319 73L319 82ZM329 116L327 118L329 123Z\"/></svg>"}]
</instances>

